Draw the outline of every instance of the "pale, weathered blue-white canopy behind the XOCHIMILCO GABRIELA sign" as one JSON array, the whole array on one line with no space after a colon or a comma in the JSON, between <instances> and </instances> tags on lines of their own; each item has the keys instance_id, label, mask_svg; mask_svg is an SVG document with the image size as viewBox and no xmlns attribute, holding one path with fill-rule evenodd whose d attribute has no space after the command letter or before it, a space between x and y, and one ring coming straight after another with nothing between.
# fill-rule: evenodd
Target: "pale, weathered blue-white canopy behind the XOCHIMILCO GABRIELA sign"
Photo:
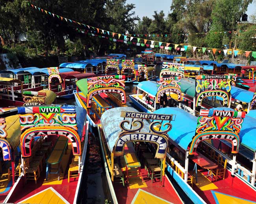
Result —
<instances>
[{"instance_id":1,"label":"pale, weathered blue-white canopy behind the XOCHIMILCO GABRIELA sign","mask_svg":"<svg viewBox=\"0 0 256 204\"><path fill-rule=\"evenodd\" d=\"M121 117L121 111L128 111L128 112L138 112L133 107L116 107L106 110L100 119L102 129L104 131L104 135L106 138L106 142L108 145L108 149L110 152L113 151L115 146L115 142L117 138L119 138L119 133L121 133L120 123L124 120ZM132 118L126 118L131 124ZM149 132L149 124L146 120L143 120L144 126L141 129L141 132ZM129 125L130 126L130 125Z\"/></svg>"}]
</instances>

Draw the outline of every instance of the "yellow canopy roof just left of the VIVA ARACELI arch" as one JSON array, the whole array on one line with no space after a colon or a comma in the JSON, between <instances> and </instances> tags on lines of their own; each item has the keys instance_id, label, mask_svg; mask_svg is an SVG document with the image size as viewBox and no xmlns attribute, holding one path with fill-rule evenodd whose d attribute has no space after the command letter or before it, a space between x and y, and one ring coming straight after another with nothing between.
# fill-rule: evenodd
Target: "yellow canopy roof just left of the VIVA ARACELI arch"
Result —
<instances>
[{"instance_id":1,"label":"yellow canopy roof just left of the VIVA ARACELI arch","mask_svg":"<svg viewBox=\"0 0 256 204\"><path fill-rule=\"evenodd\" d=\"M10 143L13 149L16 149L20 144L20 117L19 115L12 115L6 117L6 140Z\"/></svg>"}]
</instances>

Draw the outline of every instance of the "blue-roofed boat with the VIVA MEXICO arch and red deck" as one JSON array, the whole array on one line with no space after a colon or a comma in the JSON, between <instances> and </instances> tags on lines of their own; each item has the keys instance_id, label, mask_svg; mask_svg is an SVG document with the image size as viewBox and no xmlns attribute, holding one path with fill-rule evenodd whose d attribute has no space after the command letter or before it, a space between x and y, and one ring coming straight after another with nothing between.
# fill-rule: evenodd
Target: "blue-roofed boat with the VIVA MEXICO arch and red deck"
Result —
<instances>
[{"instance_id":1,"label":"blue-roofed boat with the VIVA MEXICO arch and red deck","mask_svg":"<svg viewBox=\"0 0 256 204\"><path fill-rule=\"evenodd\" d=\"M154 113L175 115L166 170L194 203L256 201L254 118L224 107L201 110L199 118L171 107ZM169 121L160 121L165 131Z\"/></svg>"}]
</instances>

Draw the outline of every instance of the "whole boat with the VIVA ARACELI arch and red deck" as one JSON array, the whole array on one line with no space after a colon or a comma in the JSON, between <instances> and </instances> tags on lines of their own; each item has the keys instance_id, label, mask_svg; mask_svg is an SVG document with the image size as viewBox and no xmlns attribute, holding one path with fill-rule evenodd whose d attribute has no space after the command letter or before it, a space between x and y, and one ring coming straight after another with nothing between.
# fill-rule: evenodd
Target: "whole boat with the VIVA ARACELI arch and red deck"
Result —
<instances>
[{"instance_id":1,"label":"whole boat with the VIVA ARACELI arch and red deck","mask_svg":"<svg viewBox=\"0 0 256 204\"><path fill-rule=\"evenodd\" d=\"M78 203L88 140L85 109L18 109L20 175L4 203Z\"/></svg>"}]
</instances>

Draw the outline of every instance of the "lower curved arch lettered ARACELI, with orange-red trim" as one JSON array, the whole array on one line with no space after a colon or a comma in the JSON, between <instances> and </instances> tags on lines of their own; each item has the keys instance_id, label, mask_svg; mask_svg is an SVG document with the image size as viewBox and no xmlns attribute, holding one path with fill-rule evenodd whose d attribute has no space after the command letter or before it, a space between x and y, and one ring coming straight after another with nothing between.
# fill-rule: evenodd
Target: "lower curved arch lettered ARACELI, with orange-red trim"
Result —
<instances>
[{"instance_id":1,"label":"lower curved arch lettered ARACELI, with orange-red trim","mask_svg":"<svg viewBox=\"0 0 256 204\"><path fill-rule=\"evenodd\" d=\"M78 133L70 127L61 126L39 126L26 129L20 136L22 157L31 156L32 140L36 136L58 135L69 139L72 144L74 155L81 155L81 141Z\"/></svg>"}]
</instances>

